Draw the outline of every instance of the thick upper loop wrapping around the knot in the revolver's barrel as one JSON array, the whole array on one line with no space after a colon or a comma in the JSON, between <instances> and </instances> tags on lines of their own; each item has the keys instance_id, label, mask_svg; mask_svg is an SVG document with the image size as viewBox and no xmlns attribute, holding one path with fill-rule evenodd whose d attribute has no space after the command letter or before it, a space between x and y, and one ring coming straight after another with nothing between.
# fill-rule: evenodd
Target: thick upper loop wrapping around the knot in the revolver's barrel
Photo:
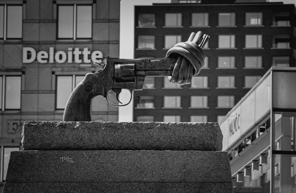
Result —
<instances>
[{"instance_id":1,"label":"thick upper loop wrapping around the knot in the revolver's barrel","mask_svg":"<svg viewBox=\"0 0 296 193\"><path fill-rule=\"evenodd\" d=\"M180 55L188 59L193 66L193 76L200 73L200 69L204 66L205 54L197 44L191 41L180 42L169 49L165 57L178 58Z\"/></svg>"}]
</instances>

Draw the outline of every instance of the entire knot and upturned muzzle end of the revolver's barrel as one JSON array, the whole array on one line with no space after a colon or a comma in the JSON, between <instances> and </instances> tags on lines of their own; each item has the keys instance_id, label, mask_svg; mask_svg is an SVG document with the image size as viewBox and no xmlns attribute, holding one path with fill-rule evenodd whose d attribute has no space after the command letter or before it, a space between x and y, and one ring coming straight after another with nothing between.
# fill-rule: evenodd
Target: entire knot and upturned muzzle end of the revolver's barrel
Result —
<instances>
[{"instance_id":1,"label":"entire knot and upturned muzzle end of the revolver's barrel","mask_svg":"<svg viewBox=\"0 0 296 193\"><path fill-rule=\"evenodd\" d=\"M186 42L180 42L168 50L166 58L177 58L173 74L168 79L178 85L189 84L192 76L197 75L205 63L202 48L210 36L201 31L192 32Z\"/></svg>"}]
</instances>

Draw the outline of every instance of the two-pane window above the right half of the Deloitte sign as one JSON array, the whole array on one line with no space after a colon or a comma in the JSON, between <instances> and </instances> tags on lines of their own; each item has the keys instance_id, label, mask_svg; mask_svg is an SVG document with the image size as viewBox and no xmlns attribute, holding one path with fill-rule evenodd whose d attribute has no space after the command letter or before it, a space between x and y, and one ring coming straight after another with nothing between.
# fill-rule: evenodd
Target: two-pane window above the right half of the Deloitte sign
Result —
<instances>
[{"instance_id":1,"label":"two-pane window above the right half of the Deloitte sign","mask_svg":"<svg viewBox=\"0 0 296 193\"><path fill-rule=\"evenodd\" d=\"M58 6L58 38L89 39L92 37L91 5Z\"/></svg>"}]
</instances>

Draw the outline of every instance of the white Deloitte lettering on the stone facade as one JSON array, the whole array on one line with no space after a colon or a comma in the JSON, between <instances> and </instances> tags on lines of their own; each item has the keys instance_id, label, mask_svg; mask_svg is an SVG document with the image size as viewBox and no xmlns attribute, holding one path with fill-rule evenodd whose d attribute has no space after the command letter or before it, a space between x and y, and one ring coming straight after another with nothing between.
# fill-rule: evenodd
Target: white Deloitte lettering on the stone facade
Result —
<instances>
[{"instance_id":1,"label":"white Deloitte lettering on the stone facade","mask_svg":"<svg viewBox=\"0 0 296 193\"><path fill-rule=\"evenodd\" d=\"M80 59L79 56L83 55L83 59ZM91 59L89 59L91 55ZM22 62L23 63L32 63L36 59L39 63L91 63L91 62L102 62L103 53L101 51L90 52L88 48L83 48L81 51L79 48L68 48L68 52L57 51L54 53L54 48L50 47L49 52L39 51L36 53L35 49L31 47L22 48ZM73 60L74 59L74 60Z\"/></svg>"}]
</instances>

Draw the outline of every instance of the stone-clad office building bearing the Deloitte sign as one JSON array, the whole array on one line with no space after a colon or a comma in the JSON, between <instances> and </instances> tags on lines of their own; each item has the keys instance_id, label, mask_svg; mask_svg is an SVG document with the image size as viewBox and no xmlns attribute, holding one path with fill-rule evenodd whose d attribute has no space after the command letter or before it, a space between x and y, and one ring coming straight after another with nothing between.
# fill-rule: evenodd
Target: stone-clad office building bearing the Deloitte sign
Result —
<instances>
[{"instance_id":1,"label":"stone-clad office building bearing the Deloitte sign","mask_svg":"<svg viewBox=\"0 0 296 193\"><path fill-rule=\"evenodd\" d=\"M100 69L92 62L119 57L119 7L119 0L0 0L2 188L24 121L62 121L75 85ZM118 121L103 97L91 110L94 121Z\"/></svg>"}]
</instances>

